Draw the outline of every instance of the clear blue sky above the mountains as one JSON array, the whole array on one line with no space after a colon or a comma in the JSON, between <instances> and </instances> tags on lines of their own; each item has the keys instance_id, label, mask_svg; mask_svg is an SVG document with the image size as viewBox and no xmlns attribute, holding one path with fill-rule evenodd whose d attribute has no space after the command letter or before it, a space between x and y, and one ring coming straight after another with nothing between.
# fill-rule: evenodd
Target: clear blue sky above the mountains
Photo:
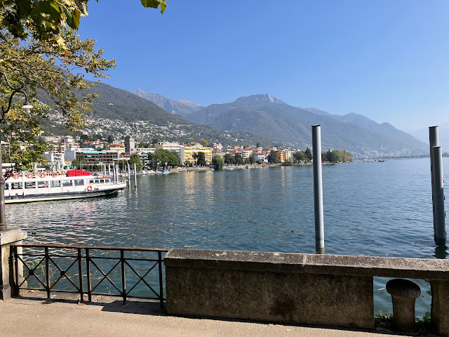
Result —
<instances>
[{"instance_id":1,"label":"clear blue sky above the mountains","mask_svg":"<svg viewBox=\"0 0 449 337\"><path fill-rule=\"evenodd\" d=\"M269 93L355 112L401 130L449 123L449 1L94 0L97 40L117 88L201 105Z\"/></svg>"}]
</instances>

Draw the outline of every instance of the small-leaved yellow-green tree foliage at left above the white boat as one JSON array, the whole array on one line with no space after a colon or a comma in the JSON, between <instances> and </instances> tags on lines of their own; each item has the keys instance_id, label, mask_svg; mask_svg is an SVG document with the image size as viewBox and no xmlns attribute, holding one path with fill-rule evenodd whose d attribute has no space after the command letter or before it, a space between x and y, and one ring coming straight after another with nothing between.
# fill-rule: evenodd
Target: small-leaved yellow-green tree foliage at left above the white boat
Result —
<instances>
[{"instance_id":1,"label":"small-leaved yellow-green tree foliage at left above the white boat","mask_svg":"<svg viewBox=\"0 0 449 337\"><path fill-rule=\"evenodd\" d=\"M78 130L83 126L84 113L91 112L91 100L95 94L87 93L95 83L84 81L86 73L94 78L107 77L107 70L114 67L114 60L102 58L102 50L95 50L95 41L81 40L72 29L62 28L65 46L31 37L16 39L6 31L3 20L5 13L0 10L0 72L3 72L14 87L25 85L31 110L21 109L25 97L17 97L6 119L0 124L0 133L13 147L15 142L21 146L20 153L9 156L8 161L15 164L17 171L29 169L35 162L43 162L40 157L43 147L38 146L41 133L39 118L46 118L48 110L62 114L67 128ZM34 99L36 92L45 93L48 105ZM0 105L7 107L13 91L0 79ZM5 149L6 153L12 153ZM9 172L11 173L11 172Z\"/></svg>"}]
</instances>

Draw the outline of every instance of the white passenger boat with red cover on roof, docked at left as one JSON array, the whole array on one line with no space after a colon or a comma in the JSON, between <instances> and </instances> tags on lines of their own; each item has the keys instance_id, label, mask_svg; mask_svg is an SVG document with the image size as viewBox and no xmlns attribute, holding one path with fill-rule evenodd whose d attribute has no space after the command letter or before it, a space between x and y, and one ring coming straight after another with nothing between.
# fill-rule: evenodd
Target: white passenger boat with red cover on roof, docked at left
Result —
<instances>
[{"instance_id":1,"label":"white passenger boat with red cover on roof, docked at left","mask_svg":"<svg viewBox=\"0 0 449 337\"><path fill-rule=\"evenodd\" d=\"M114 196L125 187L125 181L83 170L14 173L5 182L5 204Z\"/></svg>"}]
</instances>

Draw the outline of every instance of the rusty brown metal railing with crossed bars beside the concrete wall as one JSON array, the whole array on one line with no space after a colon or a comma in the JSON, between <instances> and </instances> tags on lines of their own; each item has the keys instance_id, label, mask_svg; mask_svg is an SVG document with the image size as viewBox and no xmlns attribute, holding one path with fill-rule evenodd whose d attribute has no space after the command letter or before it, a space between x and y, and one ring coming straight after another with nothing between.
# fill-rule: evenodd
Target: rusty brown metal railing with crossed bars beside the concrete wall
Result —
<instances>
[{"instance_id":1,"label":"rusty brown metal railing with crossed bars beside the concrete wall","mask_svg":"<svg viewBox=\"0 0 449 337\"><path fill-rule=\"evenodd\" d=\"M127 298L145 298L159 300L163 308L163 256L168 249L62 244L12 248L17 293L46 291L47 298L52 292L79 293L81 302L85 296L89 302L93 295L120 296L123 304ZM133 286L127 289L127 284Z\"/></svg>"}]
</instances>

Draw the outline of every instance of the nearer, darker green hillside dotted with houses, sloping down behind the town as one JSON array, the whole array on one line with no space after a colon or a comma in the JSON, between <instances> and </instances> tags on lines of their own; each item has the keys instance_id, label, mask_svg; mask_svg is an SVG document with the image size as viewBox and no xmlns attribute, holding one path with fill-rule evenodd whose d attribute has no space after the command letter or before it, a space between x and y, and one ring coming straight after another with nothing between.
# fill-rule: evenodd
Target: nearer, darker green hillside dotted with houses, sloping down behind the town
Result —
<instances>
[{"instance_id":1,"label":"nearer, darker green hillside dotted with houses, sloping down behind the town","mask_svg":"<svg viewBox=\"0 0 449 337\"><path fill-rule=\"evenodd\" d=\"M222 143L224 145L238 144L264 144L266 146L274 145L273 140L264 136L255 135L247 132L225 132L212 126L204 126L194 124L179 114L167 112L152 101L133 95L129 91L114 88L107 84L99 83L88 90L89 93L97 93L98 98L92 100L91 109L93 114L89 114L90 119L100 117L102 119L111 119L112 121L123 121L128 124L131 131L123 128L116 128L114 135L119 137L128 136L129 132L144 133L145 142L157 138L164 141L177 141L189 143L191 141L199 141L202 138L207 139L210 143ZM36 98L43 103L52 105L51 99L46 93L38 92ZM81 95L79 96L81 98ZM185 100L179 101L180 105L195 107L194 103ZM51 136L55 134L73 134L61 124L55 124L48 119L39 119L43 126L44 135ZM145 121L146 128L136 121ZM175 132L173 132L175 131ZM89 131L86 131L89 132ZM103 132L106 132L106 128ZM109 136L112 131L107 130L108 134L98 136ZM127 133L127 134L124 134ZM133 135L134 136L134 135Z\"/></svg>"}]
</instances>

